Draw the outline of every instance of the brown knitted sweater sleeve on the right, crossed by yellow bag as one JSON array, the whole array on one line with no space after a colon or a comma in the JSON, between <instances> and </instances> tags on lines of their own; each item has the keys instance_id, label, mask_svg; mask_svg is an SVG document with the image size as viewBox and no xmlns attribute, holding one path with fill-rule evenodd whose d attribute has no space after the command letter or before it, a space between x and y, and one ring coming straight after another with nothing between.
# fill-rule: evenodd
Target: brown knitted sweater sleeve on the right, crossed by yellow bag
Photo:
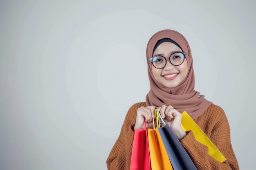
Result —
<instances>
[{"instance_id":1,"label":"brown knitted sweater sleeve on the right, crossed by yellow bag","mask_svg":"<svg viewBox=\"0 0 256 170\"><path fill-rule=\"evenodd\" d=\"M229 123L222 108L212 104L195 122L227 159L223 163L213 159L207 146L196 141L192 131L187 132L181 144L198 170L239 170L231 145Z\"/></svg>"}]
</instances>

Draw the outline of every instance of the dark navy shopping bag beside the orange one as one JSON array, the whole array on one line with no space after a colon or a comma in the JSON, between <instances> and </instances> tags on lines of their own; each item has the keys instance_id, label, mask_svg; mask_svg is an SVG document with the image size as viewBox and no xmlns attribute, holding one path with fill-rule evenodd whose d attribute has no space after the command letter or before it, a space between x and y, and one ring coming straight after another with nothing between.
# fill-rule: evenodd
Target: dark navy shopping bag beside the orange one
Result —
<instances>
[{"instance_id":1,"label":"dark navy shopping bag beside the orange one","mask_svg":"<svg viewBox=\"0 0 256 170\"><path fill-rule=\"evenodd\" d=\"M163 128L157 128L156 131L163 141L174 170L197 170L188 153L182 144L180 144L179 139L177 139L168 124Z\"/></svg>"}]
</instances>

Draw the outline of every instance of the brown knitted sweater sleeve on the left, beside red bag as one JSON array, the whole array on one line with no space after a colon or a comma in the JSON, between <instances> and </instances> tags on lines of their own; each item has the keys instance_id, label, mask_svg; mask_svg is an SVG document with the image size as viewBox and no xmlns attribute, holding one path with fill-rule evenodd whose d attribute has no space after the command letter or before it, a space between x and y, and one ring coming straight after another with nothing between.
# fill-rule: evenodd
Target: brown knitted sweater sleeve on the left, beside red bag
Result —
<instances>
[{"instance_id":1,"label":"brown knitted sweater sleeve on the left, beside red bag","mask_svg":"<svg viewBox=\"0 0 256 170\"><path fill-rule=\"evenodd\" d=\"M130 170L130 159L136 121L137 108L146 106L145 102L134 104L126 114L120 135L106 161L108 170Z\"/></svg>"}]
</instances>

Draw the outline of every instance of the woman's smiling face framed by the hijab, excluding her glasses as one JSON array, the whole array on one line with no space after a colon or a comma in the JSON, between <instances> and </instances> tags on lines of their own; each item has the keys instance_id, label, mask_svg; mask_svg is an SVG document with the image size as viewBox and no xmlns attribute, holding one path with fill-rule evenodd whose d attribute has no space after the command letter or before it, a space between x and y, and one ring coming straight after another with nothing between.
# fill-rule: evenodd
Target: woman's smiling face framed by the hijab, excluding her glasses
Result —
<instances>
[{"instance_id":1,"label":"woman's smiling face framed by the hijab, excluding her glasses","mask_svg":"<svg viewBox=\"0 0 256 170\"><path fill-rule=\"evenodd\" d=\"M168 57L170 57L170 55L175 52L182 52L182 50L171 42L163 42L157 46L155 52L153 53L153 56L162 55L167 59L167 63L164 68L158 69L152 65L151 69L157 82L168 88L178 86L188 73L188 62L186 58L184 62L179 66L174 66L170 63L170 60L168 60Z\"/></svg>"}]
</instances>

